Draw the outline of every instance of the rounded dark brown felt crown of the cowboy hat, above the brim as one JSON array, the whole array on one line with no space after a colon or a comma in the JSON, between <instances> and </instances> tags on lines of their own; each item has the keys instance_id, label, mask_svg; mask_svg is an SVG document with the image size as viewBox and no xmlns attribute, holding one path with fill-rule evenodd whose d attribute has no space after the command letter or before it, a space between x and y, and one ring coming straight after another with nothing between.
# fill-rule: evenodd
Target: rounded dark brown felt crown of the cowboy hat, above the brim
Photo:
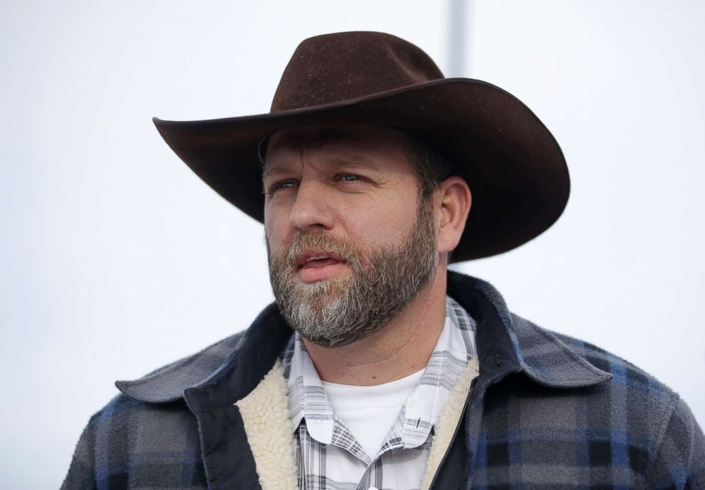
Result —
<instances>
[{"instance_id":1,"label":"rounded dark brown felt crown of the cowboy hat, above the brim","mask_svg":"<svg viewBox=\"0 0 705 490\"><path fill-rule=\"evenodd\" d=\"M396 36L325 34L298 45L281 75L271 112L340 103L441 78L429 55Z\"/></svg>"}]
</instances>

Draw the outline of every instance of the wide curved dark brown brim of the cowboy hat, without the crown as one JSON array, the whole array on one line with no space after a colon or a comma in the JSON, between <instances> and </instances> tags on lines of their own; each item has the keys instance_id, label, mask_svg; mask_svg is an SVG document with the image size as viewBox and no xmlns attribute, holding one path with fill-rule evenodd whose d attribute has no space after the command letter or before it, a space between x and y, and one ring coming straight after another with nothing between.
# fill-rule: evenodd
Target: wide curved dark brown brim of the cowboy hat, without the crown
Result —
<instances>
[{"instance_id":1,"label":"wide curved dark brown brim of the cowboy hat, without the crown","mask_svg":"<svg viewBox=\"0 0 705 490\"><path fill-rule=\"evenodd\" d=\"M411 131L468 182L473 204L453 262L501 254L561 215L570 179L561 148L519 99L487 82L434 80L336 104L256 116L154 124L196 175L264 222L259 141L294 126L371 124Z\"/></svg>"}]
</instances>

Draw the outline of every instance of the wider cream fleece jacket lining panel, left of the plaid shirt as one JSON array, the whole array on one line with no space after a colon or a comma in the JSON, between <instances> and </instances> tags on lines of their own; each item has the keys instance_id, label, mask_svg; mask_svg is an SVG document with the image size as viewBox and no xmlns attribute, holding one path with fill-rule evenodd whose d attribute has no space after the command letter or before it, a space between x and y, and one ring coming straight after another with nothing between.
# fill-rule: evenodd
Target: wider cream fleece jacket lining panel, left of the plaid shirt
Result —
<instances>
[{"instance_id":1,"label":"wider cream fleece jacket lining panel, left of the plaid shirt","mask_svg":"<svg viewBox=\"0 0 705 490\"><path fill-rule=\"evenodd\" d=\"M257 388L235 405L240 408L262 490L297 489L294 438L281 362L277 360Z\"/></svg>"}]
</instances>

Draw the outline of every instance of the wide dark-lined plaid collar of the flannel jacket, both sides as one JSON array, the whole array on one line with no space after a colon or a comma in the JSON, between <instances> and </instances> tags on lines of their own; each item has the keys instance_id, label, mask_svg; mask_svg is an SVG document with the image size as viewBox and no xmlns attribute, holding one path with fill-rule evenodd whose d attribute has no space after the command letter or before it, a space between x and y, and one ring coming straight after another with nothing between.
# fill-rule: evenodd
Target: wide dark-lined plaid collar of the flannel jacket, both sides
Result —
<instances>
[{"instance_id":1,"label":"wide dark-lined plaid collar of the flannel jacket, both sides","mask_svg":"<svg viewBox=\"0 0 705 490\"><path fill-rule=\"evenodd\" d=\"M478 322L480 376L485 383L512 372L523 372L529 379L554 388L590 386L612 377L551 332L512 315L489 283L449 271L448 295ZM290 327L272 303L247 331L144 378L115 384L130 398L149 403L180 400L184 391L191 388L207 393L204 403L208 405L232 404L257 386L290 335Z\"/></svg>"}]
</instances>

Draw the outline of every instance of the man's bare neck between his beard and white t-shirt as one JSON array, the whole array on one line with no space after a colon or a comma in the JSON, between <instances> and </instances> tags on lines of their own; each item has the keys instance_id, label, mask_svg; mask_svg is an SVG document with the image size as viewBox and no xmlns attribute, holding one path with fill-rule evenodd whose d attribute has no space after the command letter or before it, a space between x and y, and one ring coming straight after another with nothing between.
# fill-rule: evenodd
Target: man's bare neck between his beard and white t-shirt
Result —
<instances>
[{"instance_id":1,"label":"man's bare neck between his beard and white t-shirt","mask_svg":"<svg viewBox=\"0 0 705 490\"><path fill-rule=\"evenodd\" d=\"M379 332L345 347L321 347L306 339L303 343L323 381L372 386L423 369L445 317L446 267L439 264L429 284Z\"/></svg>"}]
</instances>

